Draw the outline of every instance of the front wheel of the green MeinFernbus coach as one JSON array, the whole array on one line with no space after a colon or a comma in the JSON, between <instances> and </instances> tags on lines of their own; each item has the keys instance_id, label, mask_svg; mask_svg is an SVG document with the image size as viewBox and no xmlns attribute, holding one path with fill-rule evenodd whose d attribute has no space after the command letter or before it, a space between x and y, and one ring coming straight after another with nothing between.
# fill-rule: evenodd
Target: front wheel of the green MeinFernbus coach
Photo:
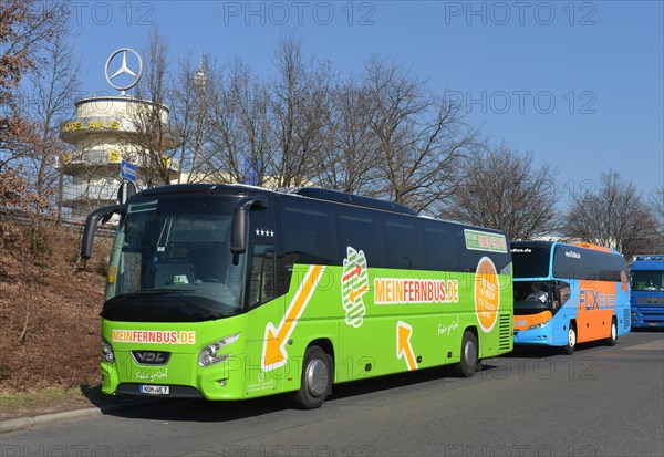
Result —
<instances>
[{"instance_id":1,"label":"front wheel of the green MeinFernbus coach","mask_svg":"<svg viewBox=\"0 0 664 457\"><path fill-rule=\"evenodd\" d=\"M319 346L310 346L304 353L302 365L302 383L295 394L294 402L303 409L320 407L332 387L332 357Z\"/></svg>"}]
</instances>

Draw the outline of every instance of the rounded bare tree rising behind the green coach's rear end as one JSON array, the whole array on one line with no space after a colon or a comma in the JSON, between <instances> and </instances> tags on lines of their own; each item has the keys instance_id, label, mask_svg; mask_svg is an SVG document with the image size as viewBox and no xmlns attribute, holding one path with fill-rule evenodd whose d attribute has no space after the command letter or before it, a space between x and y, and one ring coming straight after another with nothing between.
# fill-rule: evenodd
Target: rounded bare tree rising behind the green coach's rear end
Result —
<instances>
[{"instance_id":1,"label":"rounded bare tree rising behind the green coach's rear end","mask_svg":"<svg viewBox=\"0 0 664 457\"><path fill-rule=\"evenodd\" d=\"M536 166L531 154L500 144L475 153L461 173L443 217L504 230L515 240L556 231L556 170L548 164Z\"/></svg>"}]
</instances>

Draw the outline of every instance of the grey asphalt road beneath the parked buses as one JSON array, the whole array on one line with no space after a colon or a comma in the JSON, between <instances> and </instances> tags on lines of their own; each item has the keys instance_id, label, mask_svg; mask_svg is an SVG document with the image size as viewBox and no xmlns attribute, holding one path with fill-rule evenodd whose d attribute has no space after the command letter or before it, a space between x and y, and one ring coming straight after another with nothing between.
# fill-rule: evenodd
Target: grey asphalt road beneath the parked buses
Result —
<instances>
[{"instance_id":1,"label":"grey asphalt road beneath the parked buses","mask_svg":"<svg viewBox=\"0 0 664 457\"><path fill-rule=\"evenodd\" d=\"M573 356L518 351L473 378L444 370L335 386L315 411L283 397L163 401L0 435L2 456L663 456L664 333Z\"/></svg>"}]
</instances>

